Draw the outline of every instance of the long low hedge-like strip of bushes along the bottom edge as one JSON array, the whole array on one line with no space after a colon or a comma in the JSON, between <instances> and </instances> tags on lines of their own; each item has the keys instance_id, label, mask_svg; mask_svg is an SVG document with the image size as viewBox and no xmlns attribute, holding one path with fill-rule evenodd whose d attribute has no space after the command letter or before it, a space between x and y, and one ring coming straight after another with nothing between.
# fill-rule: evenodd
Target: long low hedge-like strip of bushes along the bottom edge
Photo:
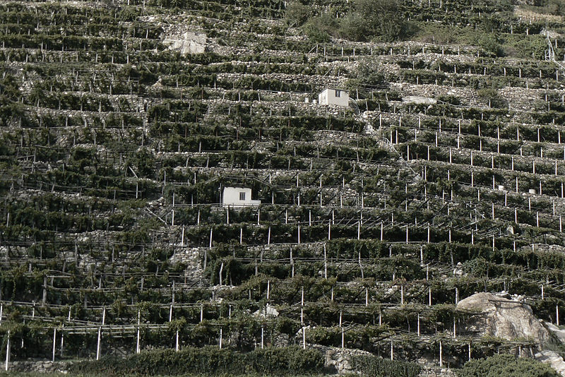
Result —
<instances>
[{"instance_id":1,"label":"long low hedge-like strip of bushes along the bottom edge","mask_svg":"<svg viewBox=\"0 0 565 377\"><path fill-rule=\"evenodd\" d=\"M249 373L319 373L323 369L320 352L300 347L267 347L247 353L218 347L186 348L141 352L125 359L105 357L99 361L81 361L71 366L76 373L104 373L109 376L124 373L144 376L159 374L177 376L187 373L243 376Z\"/></svg>"}]
</instances>

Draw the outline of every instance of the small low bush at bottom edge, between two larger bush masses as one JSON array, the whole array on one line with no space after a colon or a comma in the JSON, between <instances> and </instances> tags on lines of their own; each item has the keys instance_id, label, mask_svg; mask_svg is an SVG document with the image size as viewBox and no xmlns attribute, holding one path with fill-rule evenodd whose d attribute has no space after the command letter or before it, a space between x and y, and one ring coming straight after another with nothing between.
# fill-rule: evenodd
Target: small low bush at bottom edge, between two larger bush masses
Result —
<instances>
[{"instance_id":1,"label":"small low bush at bottom edge, between two larger bush masses","mask_svg":"<svg viewBox=\"0 0 565 377\"><path fill-rule=\"evenodd\" d=\"M405 361L392 361L375 356L358 355L351 358L351 366L368 377L416 377L422 367Z\"/></svg>"}]
</instances>

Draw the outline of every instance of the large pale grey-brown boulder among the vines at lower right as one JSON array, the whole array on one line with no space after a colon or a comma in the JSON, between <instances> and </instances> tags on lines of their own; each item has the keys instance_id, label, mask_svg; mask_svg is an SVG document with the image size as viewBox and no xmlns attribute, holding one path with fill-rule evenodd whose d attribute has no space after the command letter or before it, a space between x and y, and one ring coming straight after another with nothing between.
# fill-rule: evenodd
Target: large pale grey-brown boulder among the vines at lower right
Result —
<instances>
[{"instance_id":1,"label":"large pale grey-brown boulder among the vines at lower right","mask_svg":"<svg viewBox=\"0 0 565 377\"><path fill-rule=\"evenodd\" d=\"M551 337L547 328L533 315L532 308L523 301L482 292L459 301L457 308L483 314L467 321L467 331L506 340L534 340L540 345L549 342Z\"/></svg>"}]
</instances>

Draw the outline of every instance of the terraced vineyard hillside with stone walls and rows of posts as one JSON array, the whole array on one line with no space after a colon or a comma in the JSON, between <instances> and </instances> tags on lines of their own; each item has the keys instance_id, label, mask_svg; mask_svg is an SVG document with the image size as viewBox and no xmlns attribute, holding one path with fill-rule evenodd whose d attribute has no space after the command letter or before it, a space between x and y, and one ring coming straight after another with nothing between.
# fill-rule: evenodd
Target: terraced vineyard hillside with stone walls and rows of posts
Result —
<instances>
[{"instance_id":1,"label":"terraced vineyard hillside with stone walls and rows of posts","mask_svg":"<svg viewBox=\"0 0 565 377\"><path fill-rule=\"evenodd\" d=\"M540 32L565 25L400 5L520 48L316 42L275 0L2 1L1 352L535 349L465 330L477 313L456 304L504 290L564 320L565 40ZM206 51L175 49L186 32ZM324 88L350 107L314 103ZM261 205L222 205L229 186Z\"/></svg>"}]
</instances>

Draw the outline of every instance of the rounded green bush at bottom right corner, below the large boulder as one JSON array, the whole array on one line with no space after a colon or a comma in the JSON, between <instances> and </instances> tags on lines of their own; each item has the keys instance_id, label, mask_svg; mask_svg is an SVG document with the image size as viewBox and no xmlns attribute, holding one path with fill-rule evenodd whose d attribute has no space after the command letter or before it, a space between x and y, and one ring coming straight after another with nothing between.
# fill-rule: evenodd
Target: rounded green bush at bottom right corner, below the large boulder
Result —
<instances>
[{"instance_id":1,"label":"rounded green bush at bottom right corner, below the large boulder","mask_svg":"<svg viewBox=\"0 0 565 377\"><path fill-rule=\"evenodd\" d=\"M533 359L502 354L471 360L456 371L458 377L557 377L551 366Z\"/></svg>"}]
</instances>

